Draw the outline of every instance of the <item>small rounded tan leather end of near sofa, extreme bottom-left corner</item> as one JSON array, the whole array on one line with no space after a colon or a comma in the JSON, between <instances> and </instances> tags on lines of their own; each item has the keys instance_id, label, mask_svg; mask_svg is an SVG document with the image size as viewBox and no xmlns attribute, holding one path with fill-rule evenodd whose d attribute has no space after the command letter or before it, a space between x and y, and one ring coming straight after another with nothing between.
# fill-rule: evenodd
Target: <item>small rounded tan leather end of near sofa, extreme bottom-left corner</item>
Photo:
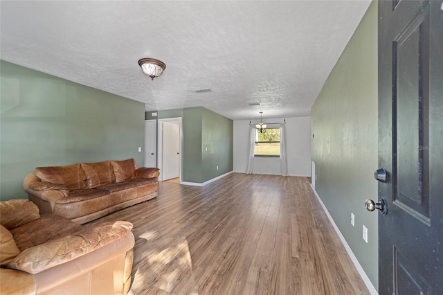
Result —
<instances>
[{"instance_id":1,"label":"small rounded tan leather end of near sofa, extreme bottom-left corner","mask_svg":"<svg viewBox=\"0 0 443 295\"><path fill-rule=\"evenodd\" d=\"M0 294L37 294L35 276L15 269L0 269Z\"/></svg>"}]
</instances>

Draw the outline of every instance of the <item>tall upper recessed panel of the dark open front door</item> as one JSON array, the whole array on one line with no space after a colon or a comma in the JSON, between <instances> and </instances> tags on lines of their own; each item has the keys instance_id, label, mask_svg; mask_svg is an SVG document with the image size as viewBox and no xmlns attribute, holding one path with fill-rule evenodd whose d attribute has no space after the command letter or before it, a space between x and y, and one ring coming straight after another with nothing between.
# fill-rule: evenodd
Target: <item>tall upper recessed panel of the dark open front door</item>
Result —
<instances>
[{"instance_id":1,"label":"tall upper recessed panel of the dark open front door","mask_svg":"<svg viewBox=\"0 0 443 295\"><path fill-rule=\"evenodd\" d=\"M428 32L427 5L401 28L392 48L394 198L422 220L428 220L429 213L428 153L423 148L428 146Z\"/></svg>"}]
</instances>

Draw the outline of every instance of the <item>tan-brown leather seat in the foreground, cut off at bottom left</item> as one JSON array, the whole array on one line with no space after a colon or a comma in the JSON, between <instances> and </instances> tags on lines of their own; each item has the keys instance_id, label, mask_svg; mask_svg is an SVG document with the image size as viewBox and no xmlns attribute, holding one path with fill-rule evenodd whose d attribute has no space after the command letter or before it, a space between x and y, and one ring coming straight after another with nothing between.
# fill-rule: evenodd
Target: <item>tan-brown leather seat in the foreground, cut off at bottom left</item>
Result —
<instances>
[{"instance_id":1,"label":"tan-brown leather seat in the foreground, cut off at bottom left","mask_svg":"<svg viewBox=\"0 0 443 295\"><path fill-rule=\"evenodd\" d=\"M0 202L0 294L127 294L129 222L81 226L39 215L27 199Z\"/></svg>"}]
</instances>

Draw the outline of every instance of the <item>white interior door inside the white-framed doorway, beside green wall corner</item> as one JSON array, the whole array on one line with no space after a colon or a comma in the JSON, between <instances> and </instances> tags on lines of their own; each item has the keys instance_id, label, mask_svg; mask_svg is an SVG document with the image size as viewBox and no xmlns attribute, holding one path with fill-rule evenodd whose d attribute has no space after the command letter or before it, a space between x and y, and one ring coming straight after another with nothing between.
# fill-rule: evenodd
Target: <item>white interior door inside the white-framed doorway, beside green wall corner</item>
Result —
<instances>
[{"instance_id":1,"label":"white interior door inside the white-framed doorway, beside green wall corner","mask_svg":"<svg viewBox=\"0 0 443 295\"><path fill-rule=\"evenodd\" d=\"M163 122L163 180L180 176L180 125Z\"/></svg>"}]
</instances>

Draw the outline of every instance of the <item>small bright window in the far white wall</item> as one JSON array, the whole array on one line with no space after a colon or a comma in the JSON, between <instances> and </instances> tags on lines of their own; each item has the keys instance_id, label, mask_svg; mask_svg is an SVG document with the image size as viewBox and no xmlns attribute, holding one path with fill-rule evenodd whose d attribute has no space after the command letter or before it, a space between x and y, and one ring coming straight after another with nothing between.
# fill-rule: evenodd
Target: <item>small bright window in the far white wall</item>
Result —
<instances>
[{"instance_id":1,"label":"small bright window in the far white wall","mask_svg":"<svg viewBox=\"0 0 443 295\"><path fill-rule=\"evenodd\" d=\"M254 156L280 157L280 128L255 130Z\"/></svg>"}]
</instances>

